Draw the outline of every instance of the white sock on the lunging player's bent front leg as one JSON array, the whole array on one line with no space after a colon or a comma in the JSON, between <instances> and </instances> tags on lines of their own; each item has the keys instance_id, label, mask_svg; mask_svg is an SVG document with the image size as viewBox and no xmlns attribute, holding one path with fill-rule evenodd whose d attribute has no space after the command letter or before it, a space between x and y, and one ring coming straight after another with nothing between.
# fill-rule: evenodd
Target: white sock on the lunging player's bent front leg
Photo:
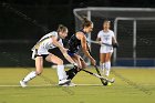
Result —
<instances>
[{"instance_id":1,"label":"white sock on the lunging player's bent front leg","mask_svg":"<svg viewBox=\"0 0 155 103\"><path fill-rule=\"evenodd\" d=\"M64 65L58 65L58 76L59 76L59 80L64 80L68 78L64 71Z\"/></svg>"}]
</instances>

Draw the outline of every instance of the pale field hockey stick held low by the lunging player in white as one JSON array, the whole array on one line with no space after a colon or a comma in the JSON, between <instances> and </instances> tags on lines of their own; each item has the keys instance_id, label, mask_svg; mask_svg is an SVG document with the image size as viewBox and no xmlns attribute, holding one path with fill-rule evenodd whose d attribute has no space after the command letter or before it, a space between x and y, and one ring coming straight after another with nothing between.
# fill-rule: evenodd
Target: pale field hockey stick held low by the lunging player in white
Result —
<instances>
[{"instance_id":1,"label":"pale field hockey stick held low by the lunging player in white","mask_svg":"<svg viewBox=\"0 0 155 103\"><path fill-rule=\"evenodd\" d=\"M104 80L104 81L107 81L107 82L111 82L111 83L114 83L114 79L107 79L107 78L104 78L104 76L101 76L101 75L99 75L99 74L96 74L96 73L92 73L92 72L90 72L90 71L87 71L87 70L84 70L84 69L82 69L82 71L84 71L84 72L86 72L86 73L89 73L89 74L91 74L91 75L94 75L94 76L96 76L96 78L99 78L99 79L102 79L102 80ZM104 83L104 81L103 81L103 83ZM105 85L105 84L104 84Z\"/></svg>"}]
</instances>

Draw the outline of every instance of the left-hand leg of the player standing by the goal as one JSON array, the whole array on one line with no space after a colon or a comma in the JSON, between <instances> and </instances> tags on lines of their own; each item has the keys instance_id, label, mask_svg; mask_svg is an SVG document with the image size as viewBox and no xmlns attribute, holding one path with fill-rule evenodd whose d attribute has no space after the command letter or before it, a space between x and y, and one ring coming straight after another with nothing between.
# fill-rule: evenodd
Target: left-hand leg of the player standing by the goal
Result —
<instances>
[{"instance_id":1,"label":"left-hand leg of the player standing by the goal","mask_svg":"<svg viewBox=\"0 0 155 103\"><path fill-rule=\"evenodd\" d=\"M105 71L105 56L106 53L100 53L100 66L101 66L102 74L104 74Z\"/></svg>"}]
</instances>

